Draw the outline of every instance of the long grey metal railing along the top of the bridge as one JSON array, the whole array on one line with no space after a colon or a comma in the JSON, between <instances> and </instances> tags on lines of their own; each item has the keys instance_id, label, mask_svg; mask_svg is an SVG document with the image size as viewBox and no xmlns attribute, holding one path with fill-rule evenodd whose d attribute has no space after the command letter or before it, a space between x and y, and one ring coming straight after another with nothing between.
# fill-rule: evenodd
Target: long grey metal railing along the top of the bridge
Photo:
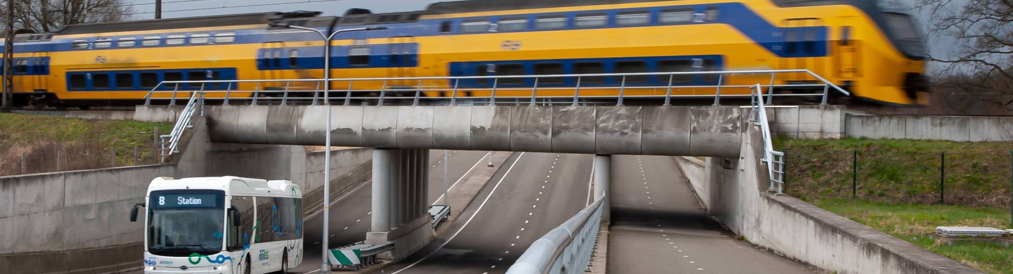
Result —
<instances>
[{"instance_id":1,"label":"long grey metal railing along the top of the bridge","mask_svg":"<svg viewBox=\"0 0 1013 274\"><path fill-rule=\"evenodd\" d=\"M731 75L739 75L731 77ZM743 76L747 75L747 76ZM804 82L775 84L778 75L799 79ZM536 105L539 99L572 99L572 105L581 102L604 102L623 106L624 99L654 98L663 100L663 106L671 106L673 99L713 98L715 106L722 98L747 98L752 95L746 90L753 85L728 84L727 82L765 82L769 76L769 88L806 88L823 92L767 94L768 104L774 96L821 96L822 105L828 102L831 91L850 95L840 86L828 81L807 69L790 70L742 70L742 71L694 71L694 72L652 72L652 73L605 73L605 74L555 74L555 75L510 75L510 76L455 76L455 77L395 77L395 78L332 78L329 102L347 106L362 100L362 105L384 106L390 100L411 100L417 106L421 100L436 100L438 104L456 106L459 100L495 105L498 102L527 102ZM650 84L645 77L655 77L658 81ZM680 80L694 79L690 82ZM746 78L744 78L746 77ZM618 84L606 83L604 79L615 79ZM699 80L703 79L703 80ZM207 81L164 81L152 88L145 96L145 105L166 101L175 105L178 98L193 92L204 92L207 100L230 105L242 100L244 105L320 105L323 104L323 79L263 79L263 80L207 80ZM667 82L667 83L665 83ZM673 91L677 91L674 92ZM461 93L465 93L462 95ZM681 94L682 93L682 94ZM691 93L691 94L685 94Z\"/></svg>"}]
</instances>

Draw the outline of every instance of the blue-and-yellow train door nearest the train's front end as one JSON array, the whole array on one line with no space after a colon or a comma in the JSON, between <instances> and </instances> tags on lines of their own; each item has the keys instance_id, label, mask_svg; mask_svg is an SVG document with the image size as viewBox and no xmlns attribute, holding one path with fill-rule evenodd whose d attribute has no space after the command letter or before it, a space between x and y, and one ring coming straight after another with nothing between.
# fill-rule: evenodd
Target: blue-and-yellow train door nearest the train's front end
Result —
<instances>
[{"instance_id":1,"label":"blue-and-yellow train door nearest the train's front end","mask_svg":"<svg viewBox=\"0 0 1013 274\"><path fill-rule=\"evenodd\" d=\"M787 27L784 31L784 53L781 59L782 69L808 69L813 73L824 73L824 63L820 62L822 57L814 57L819 53L820 43L825 43L827 38L819 37L816 28L803 28L809 26L823 25L820 18L789 18L782 22ZM788 73L778 77L789 82L813 81L815 78L806 73Z\"/></svg>"}]
</instances>

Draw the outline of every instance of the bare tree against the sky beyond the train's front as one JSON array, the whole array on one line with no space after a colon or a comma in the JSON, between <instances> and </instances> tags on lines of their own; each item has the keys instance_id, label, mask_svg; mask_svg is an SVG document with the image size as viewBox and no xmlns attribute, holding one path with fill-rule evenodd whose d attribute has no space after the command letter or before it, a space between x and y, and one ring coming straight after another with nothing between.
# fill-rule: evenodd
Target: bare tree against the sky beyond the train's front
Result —
<instances>
[{"instance_id":1,"label":"bare tree against the sky beyond the train's front","mask_svg":"<svg viewBox=\"0 0 1013 274\"><path fill-rule=\"evenodd\" d=\"M937 95L962 95L943 101L968 112L1013 112L1013 0L920 0L919 7L930 18L929 40L951 47L929 56L938 65L935 89L948 92Z\"/></svg>"}]
</instances>

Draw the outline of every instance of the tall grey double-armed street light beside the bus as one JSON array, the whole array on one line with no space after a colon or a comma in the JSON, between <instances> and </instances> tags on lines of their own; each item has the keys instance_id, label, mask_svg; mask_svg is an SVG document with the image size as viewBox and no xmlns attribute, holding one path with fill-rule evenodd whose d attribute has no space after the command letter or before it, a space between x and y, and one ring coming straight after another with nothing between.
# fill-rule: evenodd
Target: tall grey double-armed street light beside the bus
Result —
<instances>
[{"instance_id":1,"label":"tall grey double-armed street light beside the bus","mask_svg":"<svg viewBox=\"0 0 1013 274\"><path fill-rule=\"evenodd\" d=\"M289 24L289 23L270 22L270 23L268 23L268 25L275 26L275 27L295 28L295 29L302 29L302 30L317 32L318 35L320 35L321 38L323 38L323 41L324 41L324 43L323 43L323 101L324 101L324 106L327 106L327 132L324 134L326 136L324 138L325 139L324 140L324 146L326 148L324 149L324 161L323 161L323 177L324 177L324 180L323 180L323 241L321 241L321 245L323 247L323 254L320 256L320 273L329 273L330 272L330 266L327 265L327 258L328 258L327 257L327 244L329 242L328 241L329 237L327 236L327 234L329 233L329 231L328 231L327 228L328 228L328 225L330 225L330 223L329 223L330 216L327 213L327 211L328 211L328 209L330 207L330 130L331 130L331 128L330 128L330 111L331 111L330 110L330 41L332 39L334 39L334 36L336 36L337 33L340 33L340 32L361 31L361 30L381 30L381 29L387 29L387 27L385 27L385 26L374 26L374 27L344 28L344 29L337 29L336 31L331 32L330 36L328 36L324 31L316 29L316 28L310 28L310 27L292 25L292 24ZM348 90L348 92L352 92L352 90Z\"/></svg>"}]
</instances>

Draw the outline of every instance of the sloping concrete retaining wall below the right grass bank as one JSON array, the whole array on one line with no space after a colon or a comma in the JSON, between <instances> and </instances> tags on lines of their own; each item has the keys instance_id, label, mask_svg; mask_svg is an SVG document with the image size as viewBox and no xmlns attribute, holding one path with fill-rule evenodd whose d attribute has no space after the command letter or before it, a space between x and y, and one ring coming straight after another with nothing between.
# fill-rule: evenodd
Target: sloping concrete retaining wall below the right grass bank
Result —
<instances>
[{"instance_id":1,"label":"sloping concrete retaining wall below the right grass bank","mask_svg":"<svg viewBox=\"0 0 1013 274\"><path fill-rule=\"evenodd\" d=\"M808 203L767 194L762 139L757 127L746 129L737 159L677 161L707 210L734 233L836 273L981 273Z\"/></svg>"}]
</instances>

